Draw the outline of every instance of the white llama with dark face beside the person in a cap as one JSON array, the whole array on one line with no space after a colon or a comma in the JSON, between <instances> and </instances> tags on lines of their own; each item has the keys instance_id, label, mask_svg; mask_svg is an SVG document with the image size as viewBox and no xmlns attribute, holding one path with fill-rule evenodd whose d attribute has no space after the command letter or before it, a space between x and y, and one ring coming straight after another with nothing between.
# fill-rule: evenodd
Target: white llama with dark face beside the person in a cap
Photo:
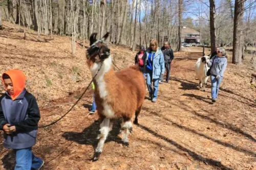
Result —
<instances>
[{"instance_id":1,"label":"white llama with dark face beside the person in a cap","mask_svg":"<svg viewBox=\"0 0 256 170\"><path fill-rule=\"evenodd\" d=\"M199 80L200 88L202 88L203 86L203 91L205 91L205 85L209 78L208 76L206 76L206 72L209 69L209 67L207 66L207 64L205 64L205 61L209 61L209 56L200 57L197 60L195 66L196 76Z\"/></svg>"}]
</instances>

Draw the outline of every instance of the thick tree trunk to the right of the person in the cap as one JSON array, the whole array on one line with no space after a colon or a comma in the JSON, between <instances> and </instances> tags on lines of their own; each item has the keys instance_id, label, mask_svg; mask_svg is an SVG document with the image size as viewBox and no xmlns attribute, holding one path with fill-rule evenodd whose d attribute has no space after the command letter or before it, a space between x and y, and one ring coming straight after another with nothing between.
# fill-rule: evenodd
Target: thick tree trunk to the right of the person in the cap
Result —
<instances>
[{"instance_id":1,"label":"thick tree trunk to the right of the person in the cap","mask_svg":"<svg viewBox=\"0 0 256 170\"><path fill-rule=\"evenodd\" d=\"M242 63L242 47L243 38L243 17L244 17L244 1L236 0L234 3L234 28L233 28L233 64Z\"/></svg>"}]
</instances>

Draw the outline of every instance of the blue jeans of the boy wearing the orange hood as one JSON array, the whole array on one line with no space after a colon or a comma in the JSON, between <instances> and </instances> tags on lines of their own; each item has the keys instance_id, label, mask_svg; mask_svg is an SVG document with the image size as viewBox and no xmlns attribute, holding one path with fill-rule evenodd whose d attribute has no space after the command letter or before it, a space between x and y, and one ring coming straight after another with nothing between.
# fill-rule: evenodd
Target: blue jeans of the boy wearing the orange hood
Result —
<instances>
[{"instance_id":1,"label":"blue jeans of the boy wearing the orange hood","mask_svg":"<svg viewBox=\"0 0 256 170\"><path fill-rule=\"evenodd\" d=\"M35 157L32 148L14 150L16 153L16 165L14 170L38 169L42 164L42 159Z\"/></svg>"}]
</instances>

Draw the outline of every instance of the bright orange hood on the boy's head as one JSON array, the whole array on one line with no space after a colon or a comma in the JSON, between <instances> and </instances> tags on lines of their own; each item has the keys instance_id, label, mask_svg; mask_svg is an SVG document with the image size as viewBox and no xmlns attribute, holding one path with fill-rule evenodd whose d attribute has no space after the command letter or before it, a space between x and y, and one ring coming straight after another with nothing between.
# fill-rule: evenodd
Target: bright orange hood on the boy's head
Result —
<instances>
[{"instance_id":1,"label":"bright orange hood on the boy's head","mask_svg":"<svg viewBox=\"0 0 256 170\"><path fill-rule=\"evenodd\" d=\"M4 74L7 74L11 78L12 85L13 85L13 95L11 95L11 98L12 100L15 100L25 88L26 77L23 71L18 69L11 69L9 71L4 72ZM2 81L4 83L3 76L2 76Z\"/></svg>"}]
</instances>

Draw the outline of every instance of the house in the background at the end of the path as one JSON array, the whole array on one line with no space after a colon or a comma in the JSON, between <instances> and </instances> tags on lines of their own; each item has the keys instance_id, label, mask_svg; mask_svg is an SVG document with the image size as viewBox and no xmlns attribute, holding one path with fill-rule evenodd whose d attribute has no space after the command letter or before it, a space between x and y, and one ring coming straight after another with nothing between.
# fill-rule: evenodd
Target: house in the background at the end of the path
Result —
<instances>
[{"instance_id":1,"label":"house in the background at the end of the path","mask_svg":"<svg viewBox=\"0 0 256 170\"><path fill-rule=\"evenodd\" d=\"M200 44L200 33L194 29L190 29L188 27L182 27L181 42L182 43L199 43Z\"/></svg>"}]
</instances>

